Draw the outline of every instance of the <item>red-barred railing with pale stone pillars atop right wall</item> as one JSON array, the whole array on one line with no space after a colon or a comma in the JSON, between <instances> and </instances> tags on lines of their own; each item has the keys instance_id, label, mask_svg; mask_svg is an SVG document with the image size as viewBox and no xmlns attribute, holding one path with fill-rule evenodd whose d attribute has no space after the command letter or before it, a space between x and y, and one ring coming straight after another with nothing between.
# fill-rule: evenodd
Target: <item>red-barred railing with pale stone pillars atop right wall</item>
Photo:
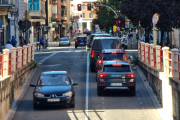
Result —
<instances>
[{"instance_id":1,"label":"red-barred railing with pale stone pillars atop right wall","mask_svg":"<svg viewBox=\"0 0 180 120\"><path fill-rule=\"evenodd\" d=\"M164 72L169 77L180 80L180 54L179 49L171 49L159 45L138 41L139 60L145 64Z\"/></svg>"}]
</instances>

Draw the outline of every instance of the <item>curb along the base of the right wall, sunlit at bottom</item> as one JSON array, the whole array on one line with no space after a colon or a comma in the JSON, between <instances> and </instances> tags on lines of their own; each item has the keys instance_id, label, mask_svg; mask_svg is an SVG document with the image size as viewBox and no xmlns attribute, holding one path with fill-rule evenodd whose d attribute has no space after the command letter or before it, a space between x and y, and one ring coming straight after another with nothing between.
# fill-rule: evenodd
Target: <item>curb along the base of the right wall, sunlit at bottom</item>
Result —
<instances>
[{"instance_id":1,"label":"curb along the base of the right wall, sunlit at bottom","mask_svg":"<svg viewBox=\"0 0 180 120\"><path fill-rule=\"evenodd\" d=\"M161 104L159 103L155 93L153 92L152 88L149 86L149 83L147 82L147 79L144 75L144 73L141 71L140 67L137 66L137 71L141 77L141 80L147 90L147 92L149 93L149 96L156 108L156 110L158 111L160 117L162 120L173 120L172 115L168 114L167 112L165 112L165 110L163 109L163 107L161 106Z\"/></svg>"}]
</instances>

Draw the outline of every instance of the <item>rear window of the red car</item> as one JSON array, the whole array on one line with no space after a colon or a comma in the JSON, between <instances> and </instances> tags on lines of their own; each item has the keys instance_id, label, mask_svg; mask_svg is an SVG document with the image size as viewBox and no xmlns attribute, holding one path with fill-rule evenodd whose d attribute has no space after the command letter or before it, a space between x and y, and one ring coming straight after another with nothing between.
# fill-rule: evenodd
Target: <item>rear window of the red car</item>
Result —
<instances>
[{"instance_id":1,"label":"rear window of the red car","mask_svg":"<svg viewBox=\"0 0 180 120\"><path fill-rule=\"evenodd\" d=\"M104 53L102 56L102 60L113 60L113 59L125 61L126 57L124 53L116 53L116 54Z\"/></svg>"}]
</instances>

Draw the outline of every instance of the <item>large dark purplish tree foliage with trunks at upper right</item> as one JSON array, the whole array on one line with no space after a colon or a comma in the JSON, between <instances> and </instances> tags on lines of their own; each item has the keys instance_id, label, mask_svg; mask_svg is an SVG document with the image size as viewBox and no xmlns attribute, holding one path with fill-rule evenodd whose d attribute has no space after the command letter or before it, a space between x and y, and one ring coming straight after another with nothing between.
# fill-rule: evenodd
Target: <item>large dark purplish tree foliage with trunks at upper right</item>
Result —
<instances>
[{"instance_id":1,"label":"large dark purplish tree foliage with trunks at upper right","mask_svg":"<svg viewBox=\"0 0 180 120\"><path fill-rule=\"evenodd\" d=\"M180 26L180 2L178 0L125 0L121 4L121 13L132 20L134 25L145 28L146 42L149 42L149 32L152 30L152 17L155 13L160 15L156 27L161 30L161 46L163 46L164 32Z\"/></svg>"}]
</instances>

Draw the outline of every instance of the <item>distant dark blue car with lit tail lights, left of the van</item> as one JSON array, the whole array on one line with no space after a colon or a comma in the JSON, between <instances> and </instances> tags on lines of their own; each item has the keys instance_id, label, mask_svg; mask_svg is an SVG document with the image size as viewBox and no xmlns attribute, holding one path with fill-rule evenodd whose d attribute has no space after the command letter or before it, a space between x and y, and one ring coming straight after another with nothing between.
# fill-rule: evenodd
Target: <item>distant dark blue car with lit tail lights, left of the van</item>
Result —
<instances>
[{"instance_id":1,"label":"distant dark blue car with lit tail lights, left of the van","mask_svg":"<svg viewBox=\"0 0 180 120\"><path fill-rule=\"evenodd\" d=\"M86 36L77 36L75 40L75 48L78 46L86 46L87 37Z\"/></svg>"}]
</instances>

